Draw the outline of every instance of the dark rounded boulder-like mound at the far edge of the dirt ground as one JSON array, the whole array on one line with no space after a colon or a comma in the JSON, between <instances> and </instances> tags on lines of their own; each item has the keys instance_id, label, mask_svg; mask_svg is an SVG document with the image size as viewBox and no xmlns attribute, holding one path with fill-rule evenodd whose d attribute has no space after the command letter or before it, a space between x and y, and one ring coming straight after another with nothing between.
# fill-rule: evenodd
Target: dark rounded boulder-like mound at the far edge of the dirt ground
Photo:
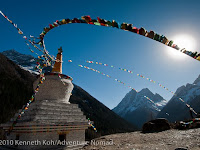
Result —
<instances>
[{"instance_id":1,"label":"dark rounded boulder-like mound at the far edge of the dirt ground","mask_svg":"<svg viewBox=\"0 0 200 150\"><path fill-rule=\"evenodd\" d=\"M170 124L168 120L164 118L159 118L155 120L151 120L149 122L146 122L142 127L142 132L160 132L164 130L169 130Z\"/></svg>"}]
</instances>

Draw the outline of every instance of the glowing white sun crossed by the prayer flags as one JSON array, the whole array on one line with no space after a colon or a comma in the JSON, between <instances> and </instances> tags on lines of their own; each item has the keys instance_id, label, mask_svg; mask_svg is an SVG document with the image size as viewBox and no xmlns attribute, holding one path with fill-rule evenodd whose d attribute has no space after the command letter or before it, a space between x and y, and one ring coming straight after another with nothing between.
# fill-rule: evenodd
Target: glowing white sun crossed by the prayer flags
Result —
<instances>
[{"instance_id":1,"label":"glowing white sun crossed by the prayer flags","mask_svg":"<svg viewBox=\"0 0 200 150\"><path fill-rule=\"evenodd\" d=\"M180 49L185 48L188 51L194 51L195 47L196 47L196 42L195 39L187 34L179 34L176 35L172 38L172 40L174 41L174 44L178 45L178 47ZM175 57L176 59L185 59L187 58L187 56L185 54L183 54L182 52L173 49L173 48L169 48L168 50L168 54L172 57Z\"/></svg>"}]
</instances>

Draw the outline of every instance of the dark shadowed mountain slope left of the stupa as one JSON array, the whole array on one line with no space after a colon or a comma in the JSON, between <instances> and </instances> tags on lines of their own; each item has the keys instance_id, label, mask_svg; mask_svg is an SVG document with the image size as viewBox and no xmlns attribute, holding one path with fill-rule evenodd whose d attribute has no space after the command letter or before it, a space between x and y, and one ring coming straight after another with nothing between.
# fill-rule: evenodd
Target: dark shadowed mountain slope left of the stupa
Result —
<instances>
[{"instance_id":1,"label":"dark shadowed mountain slope left of the stupa","mask_svg":"<svg viewBox=\"0 0 200 150\"><path fill-rule=\"evenodd\" d=\"M0 53L0 123L21 109L33 93L36 77Z\"/></svg>"}]
</instances>

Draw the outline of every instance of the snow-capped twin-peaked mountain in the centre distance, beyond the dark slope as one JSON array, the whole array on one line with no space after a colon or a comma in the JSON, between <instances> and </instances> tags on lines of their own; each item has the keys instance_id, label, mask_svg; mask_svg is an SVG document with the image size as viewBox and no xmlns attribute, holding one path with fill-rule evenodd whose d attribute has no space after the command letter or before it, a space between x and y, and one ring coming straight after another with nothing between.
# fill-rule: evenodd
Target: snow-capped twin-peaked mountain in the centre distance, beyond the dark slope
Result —
<instances>
[{"instance_id":1,"label":"snow-capped twin-peaked mountain in the centre distance, beyond the dark slope","mask_svg":"<svg viewBox=\"0 0 200 150\"><path fill-rule=\"evenodd\" d=\"M158 106L155 106L155 104L147 100L144 96L152 99ZM142 89L138 93L131 90L113 111L141 129L145 122L156 117L166 103L166 100L162 96L157 93L153 94L148 88Z\"/></svg>"}]
</instances>

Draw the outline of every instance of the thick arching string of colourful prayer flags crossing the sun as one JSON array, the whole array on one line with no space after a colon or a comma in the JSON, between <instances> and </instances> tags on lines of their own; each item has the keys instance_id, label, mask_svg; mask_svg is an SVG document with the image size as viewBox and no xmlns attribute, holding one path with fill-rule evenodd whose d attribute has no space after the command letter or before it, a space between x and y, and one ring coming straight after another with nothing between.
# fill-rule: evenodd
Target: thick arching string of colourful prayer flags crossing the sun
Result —
<instances>
[{"instance_id":1,"label":"thick arching string of colourful prayer flags crossing the sun","mask_svg":"<svg viewBox=\"0 0 200 150\"><path fill-rule=\"evenodd\" d=\"M97 17L97 19L92 19L90 16L82 16L81 18L73 18L73 19L67 18L67 19L56 20L54 23L49 24L48 27L45 27L43 29L42 33L39 36L40 41L38 42L38 44L40 44L40 46L44 47L44 36L50 30L52 30L55 27L64 25L64 24L71 24L71 23L86 23L86 24L97 25L97 26L114 27L114 28L125 30L125 31L129 31L132 33L136 33L138 35L141 35L141 36L147 37L149 39L152 39L154 41L160 42L166 46L169 46L169 47L175 49L176 51L182 52L182 53L200 61L200 53L188 51L185 48L180 48L177 44L175 44L173 42L173 40L169 40L166 36L160 35L160 34L156 33L155 31L152 31L152 30L147 31L143 27L141 27L141 28L133 27L132 24L124 23L124 22L119 24L115 20L109 21L109 20L101 19L99 17Z\"/></svg>"}]
</instances>

